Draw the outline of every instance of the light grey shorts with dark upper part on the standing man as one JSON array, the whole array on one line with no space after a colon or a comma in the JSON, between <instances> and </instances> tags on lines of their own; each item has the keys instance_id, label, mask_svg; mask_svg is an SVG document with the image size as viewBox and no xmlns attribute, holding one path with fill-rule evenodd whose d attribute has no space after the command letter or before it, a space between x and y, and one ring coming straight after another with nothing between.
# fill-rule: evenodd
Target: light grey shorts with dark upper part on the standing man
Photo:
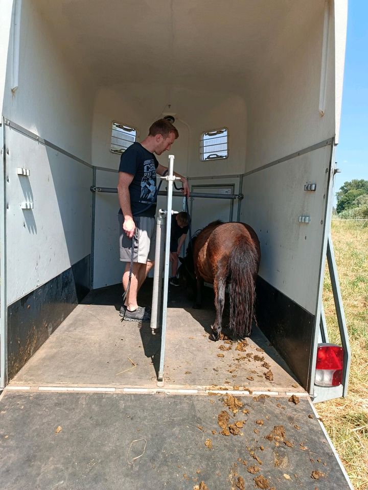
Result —
<instances>
[{"instance_id":1,"label":"light grey shorts with dark upper part on the standing man","mask_svg":"<svg viewBox=\"0 0 368 490\"><path fill-rule=\"evenodd\" d=\"M126 236L123 230L124 216L119 217L119 246L120 260L130 262L132 240ZM133 236L133 262L146 264L147 260L154 262L156 246L156 219L147 216L137 216L134 218L136 229Z\"/></svg>"}]
</instances>

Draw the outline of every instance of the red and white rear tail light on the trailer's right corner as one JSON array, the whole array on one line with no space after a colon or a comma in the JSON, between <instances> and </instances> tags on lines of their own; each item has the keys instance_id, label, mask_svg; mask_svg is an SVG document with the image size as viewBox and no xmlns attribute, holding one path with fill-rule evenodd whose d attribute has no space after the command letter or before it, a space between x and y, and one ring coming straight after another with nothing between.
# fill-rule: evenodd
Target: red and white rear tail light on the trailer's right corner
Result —
<instances>
[{"instance_id":1,"label":"red and white rear tail light on the trailer's right corner","mask_svg":"<svg viewBox=\"0 0 368 490\"><path fill-rule=\"evenodd\" d=\"M315 384L338 386L342 383L343 349L333 344L319 344Z\"/></svg>"}]
</instances>

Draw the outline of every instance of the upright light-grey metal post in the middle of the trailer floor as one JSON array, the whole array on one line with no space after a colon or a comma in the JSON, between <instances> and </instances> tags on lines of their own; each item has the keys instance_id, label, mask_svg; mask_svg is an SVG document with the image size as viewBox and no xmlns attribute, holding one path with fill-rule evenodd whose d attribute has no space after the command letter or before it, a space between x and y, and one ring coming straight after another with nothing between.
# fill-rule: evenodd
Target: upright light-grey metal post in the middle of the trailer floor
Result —
<instances>
[{"instance_id":1,"label":"upright light-grey metal post in the middle of the trailer floor","mask_svg":"<svg viewBox=\"0 0 368 490\"><path fill-rule=\"evenodd\" d=\"M172 210L172 187L175 177L173 176L174 155L169 155L169 174L167 176L167 201L166 201L166 238L165 238L165 268L164 268L164 294L163 294L163 317L161 331L161 354L158 370L157 385L164 384L165 368L165 344L166 344L166 320L167 320L167 299L169 287L169 266L170 266L170 232L171 232L171 210Z\"/></svg>"}]
</instances>

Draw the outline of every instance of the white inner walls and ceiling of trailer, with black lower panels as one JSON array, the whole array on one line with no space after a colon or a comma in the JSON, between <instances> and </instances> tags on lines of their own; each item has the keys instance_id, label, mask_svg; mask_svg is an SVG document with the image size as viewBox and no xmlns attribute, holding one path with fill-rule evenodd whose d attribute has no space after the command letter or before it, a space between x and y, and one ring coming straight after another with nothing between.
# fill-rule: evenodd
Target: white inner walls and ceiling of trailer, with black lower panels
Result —
<instances>
[{"instance_id":1,"label":"white inner walls and ceiling of trailer, with black lower panels","mask_svg":"<svg viewBox=\"0 0 368 490\"><path fill-rule=\"evenodd\" d=\"M112 121L139 140L172 113L192 190L244 195L194 199L196 228L222 217L255 229L260 327L311 397L341 396L315 391L314 366L347 2L0 5L3 387L88 290L121 280L116 195L89 190L116 186ZM228 158L200 161L200 134L222 127Z\"/></svg>"}]
</instances>

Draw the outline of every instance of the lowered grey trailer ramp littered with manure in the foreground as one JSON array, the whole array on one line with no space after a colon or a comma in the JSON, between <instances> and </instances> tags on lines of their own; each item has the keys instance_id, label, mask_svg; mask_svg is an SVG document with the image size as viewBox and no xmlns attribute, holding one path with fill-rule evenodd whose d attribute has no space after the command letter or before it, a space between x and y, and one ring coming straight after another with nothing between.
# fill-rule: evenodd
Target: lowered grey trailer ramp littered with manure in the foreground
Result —
<instances>
[{"instance_id":1,"label":"lowered grey trailer ramp littered with manure in the foreground","mask_svg":"<svg viewBox=\"0 0 368 490\"><path fill-rule=\"evenodd\" d=\"M306 398L237 397L236 413L226 400L7 389L2 488L349 488Z\"/></svg>"}]
</instances>

